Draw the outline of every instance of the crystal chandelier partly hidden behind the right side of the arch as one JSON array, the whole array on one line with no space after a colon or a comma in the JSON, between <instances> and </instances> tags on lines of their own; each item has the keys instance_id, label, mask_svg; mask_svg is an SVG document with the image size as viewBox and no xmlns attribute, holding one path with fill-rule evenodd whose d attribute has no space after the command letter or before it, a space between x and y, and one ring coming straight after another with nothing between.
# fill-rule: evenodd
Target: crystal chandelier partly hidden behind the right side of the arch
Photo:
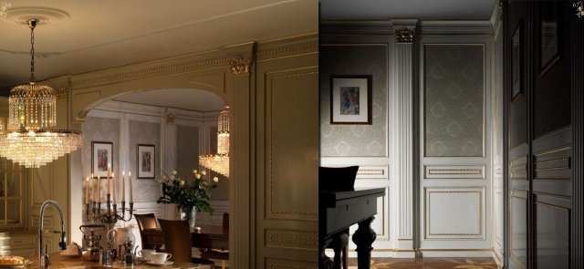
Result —
<instances>
[{"instance_id":1,"label":"crystal chandelier partly hidden behind the right side of the arch","mask_svg":"<svg viewBox=\"0 0 584 269\"><path fill-rule=\"evenodd\" d=\"M199 164L229 177L229 108L219 113L217 154L199 156Z\"/></svg>"}]
</instances>

